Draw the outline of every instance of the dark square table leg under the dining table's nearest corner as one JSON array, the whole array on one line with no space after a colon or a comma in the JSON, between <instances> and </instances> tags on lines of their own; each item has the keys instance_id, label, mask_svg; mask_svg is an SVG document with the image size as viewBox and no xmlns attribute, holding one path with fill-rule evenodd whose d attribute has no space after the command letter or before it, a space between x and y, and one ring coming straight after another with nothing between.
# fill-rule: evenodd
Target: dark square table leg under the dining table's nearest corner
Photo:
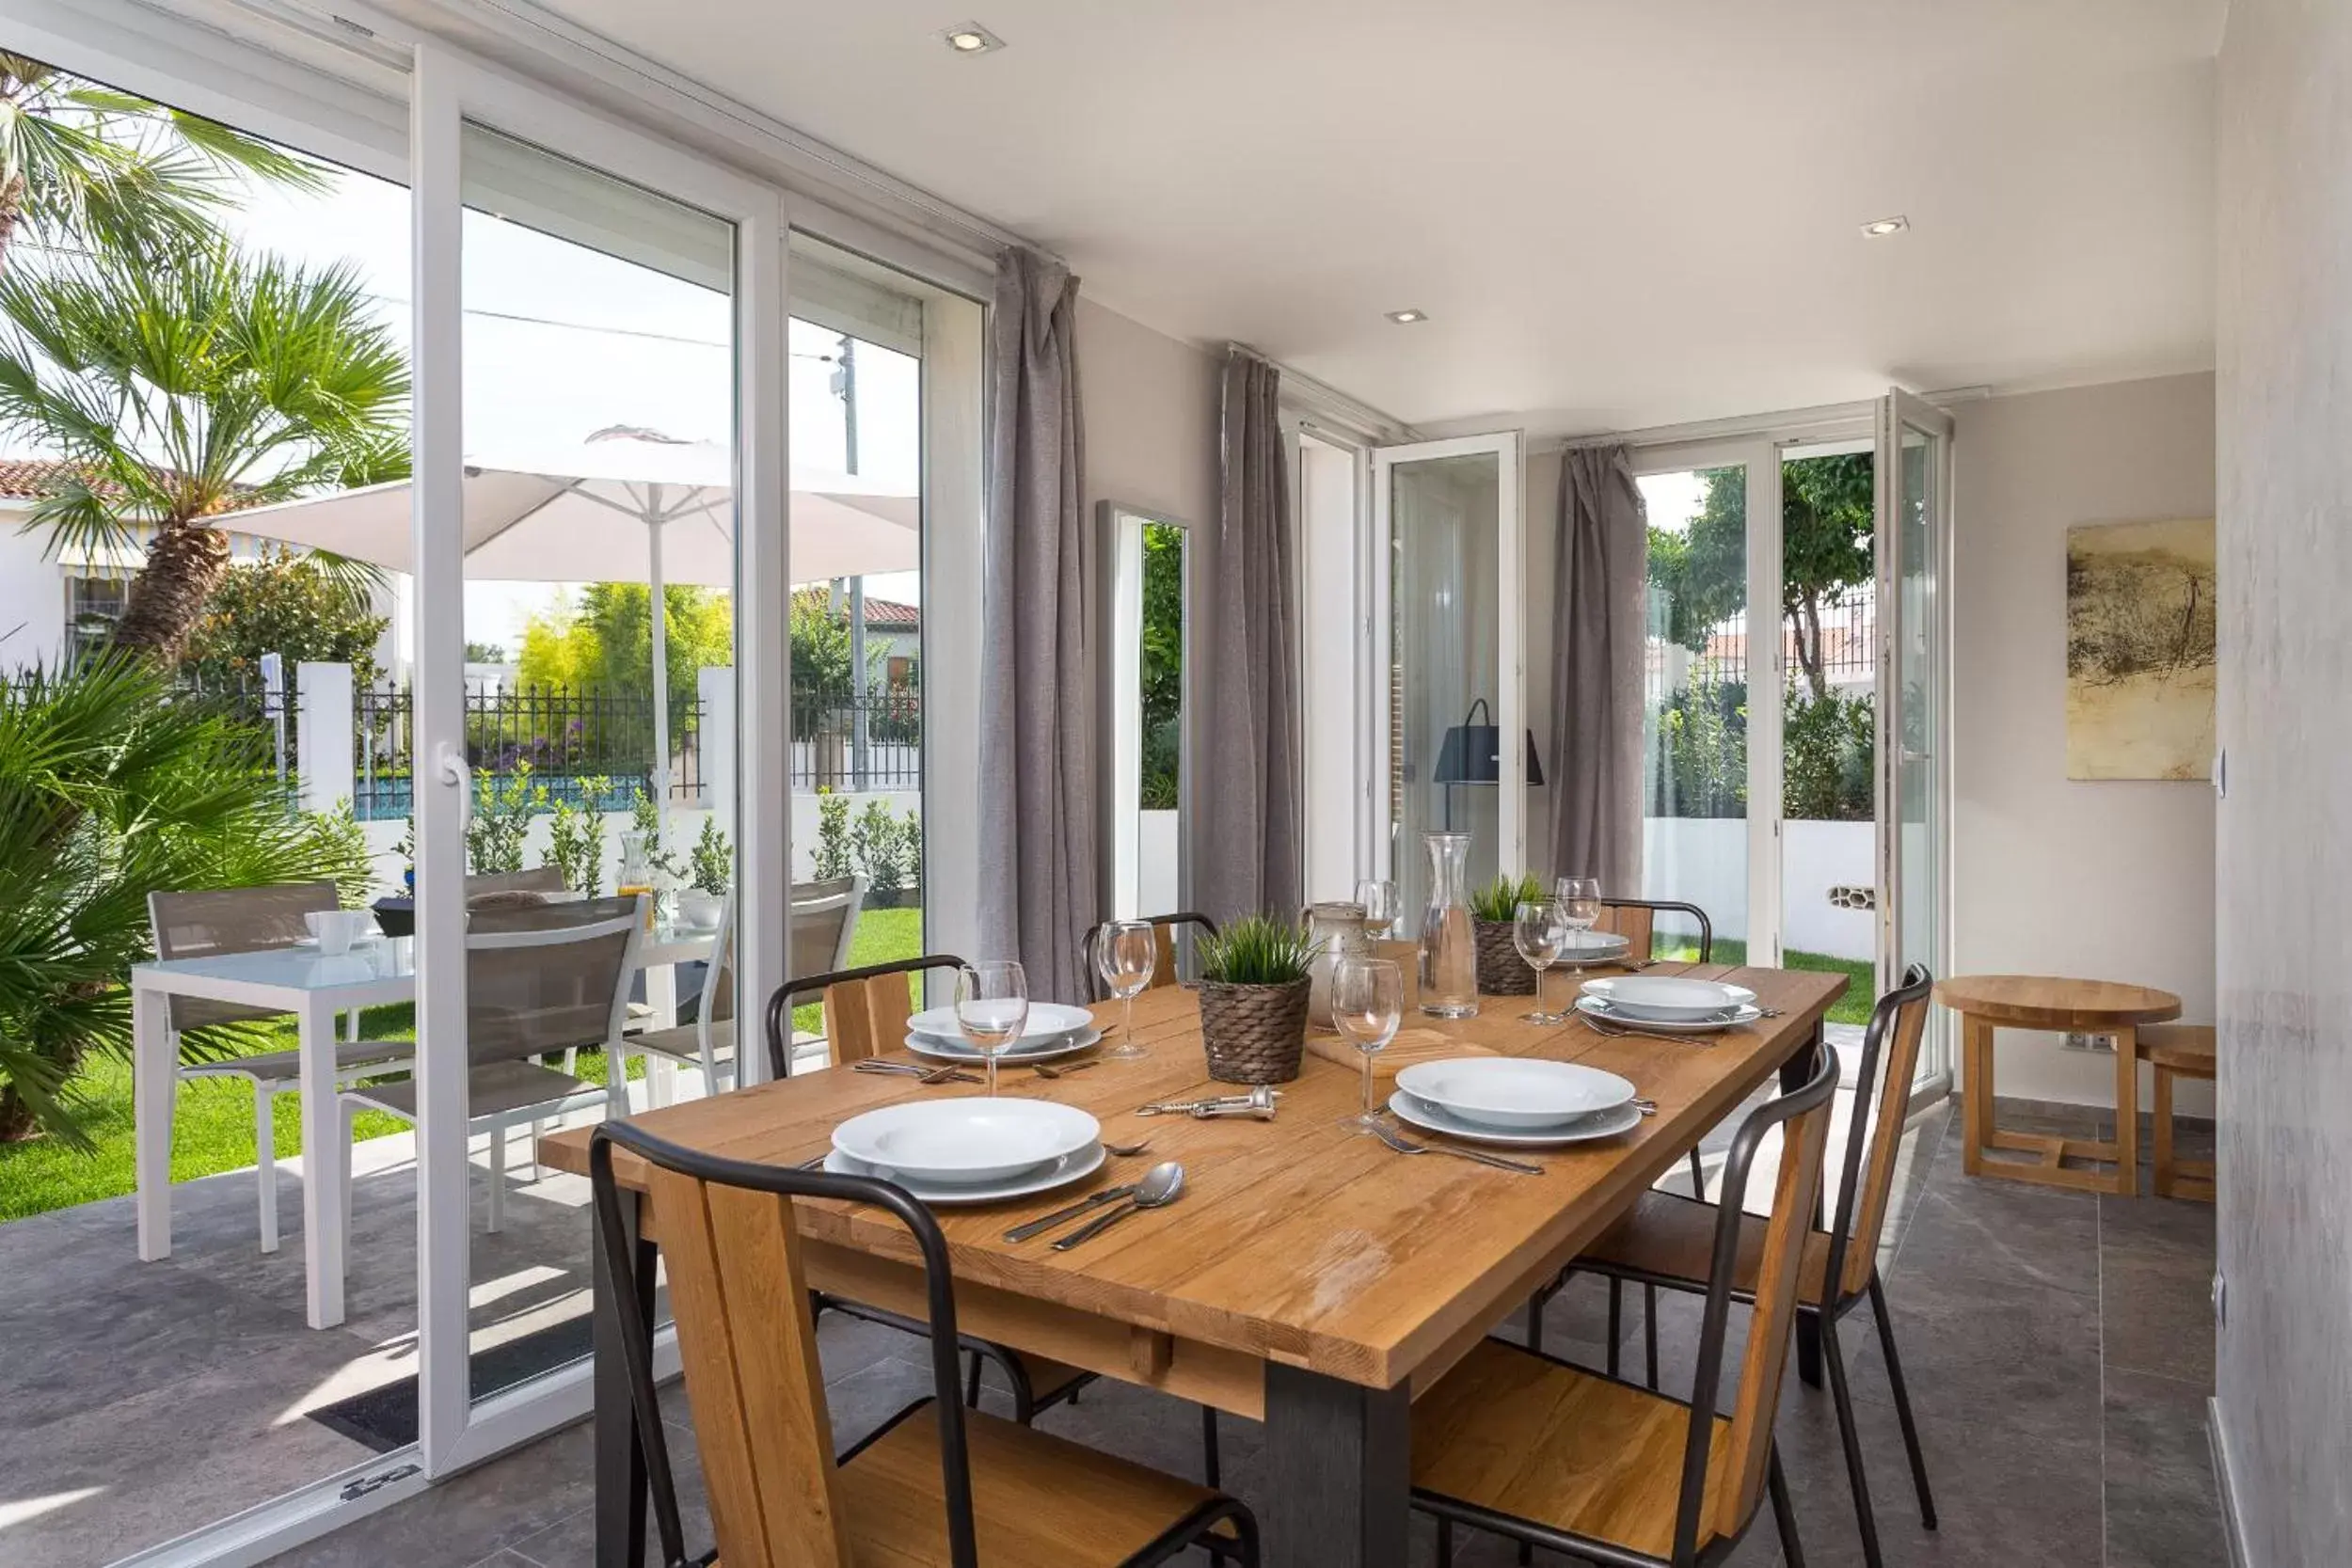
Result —
<instances>
[{"instance_id":1,"label":"dark square table leg under the dining table's nearest corner","mask_svg":"<svg viewBox=\"0 0 2352 1568\"><path fill-rule=\"evenodd\" d=\"M1265 1363L1268 1568L1404 1568L1414 1396Z\"/></svg>"}]
</instances>

